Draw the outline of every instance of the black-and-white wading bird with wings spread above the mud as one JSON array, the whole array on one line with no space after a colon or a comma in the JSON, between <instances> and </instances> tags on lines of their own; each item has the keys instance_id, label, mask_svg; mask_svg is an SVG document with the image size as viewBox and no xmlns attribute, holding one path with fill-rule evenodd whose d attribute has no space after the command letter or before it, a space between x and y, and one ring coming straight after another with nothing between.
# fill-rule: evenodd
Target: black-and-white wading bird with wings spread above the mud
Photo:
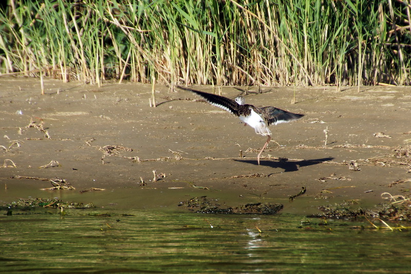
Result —
<instances>
[{"instance_id":1,"label":"black-and-white wading bird with wings spread above the mud","mask_svg":"<svg viewBox=\"0 0 411 274\"><path fill-rule=\"evenodd\" d=\"M273 106L254 106L246 104L246 100L242 96L237 96L234 100L215 94L200 92L199 90L179 86L179 88L193 92L204 98L211 105L220 107L225 111L239 117L246 125L253 127L256 134L268 136L266 143L257 156L257 163L260 164L260 156L268 143L271 141L271 131L269 125L279 123L288 123L295 121L304 116L304 114L296 114Z\"/></svg>"}]
</instances>

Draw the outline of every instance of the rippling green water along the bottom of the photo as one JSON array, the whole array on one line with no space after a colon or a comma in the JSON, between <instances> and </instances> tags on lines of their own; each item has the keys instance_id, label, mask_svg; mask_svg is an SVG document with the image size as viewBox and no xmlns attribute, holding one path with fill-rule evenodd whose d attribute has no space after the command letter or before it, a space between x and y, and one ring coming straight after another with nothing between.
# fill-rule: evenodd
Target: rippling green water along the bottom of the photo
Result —
<instances>
[{"instance_id":1,"label":"rippling green water along the bottom of the photo","mask_svg":"<svg viewBox=\"0 0 411 274\"><path fill-rule=\"evenodd\" d=\"M411 232L353 228L370 227L367 223L328 220L322 226L322 220L289 214L66 211L65 216L53 209L1 216L0 271L395 273L411 269Z\"/></svg>"}]
</instances>

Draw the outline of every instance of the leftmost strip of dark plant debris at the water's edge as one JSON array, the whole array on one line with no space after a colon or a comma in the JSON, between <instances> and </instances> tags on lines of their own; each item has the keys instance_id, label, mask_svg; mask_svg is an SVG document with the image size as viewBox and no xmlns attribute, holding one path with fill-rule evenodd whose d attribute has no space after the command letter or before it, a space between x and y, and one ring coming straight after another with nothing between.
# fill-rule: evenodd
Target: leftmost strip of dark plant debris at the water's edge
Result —
<instances>
[{"instance_id":1,"label":"leftmost strip of dark plant debris at the water's edge","mask_svg":"<svg viewBox=\"0 0 411 274\"><path fill-rule=\"evenodd\" d=\"M90 203L84 205L83 203L69 203L63 202L59 199L53 198L28 198L28 199L19 199L17 202L11 204L5 204L0 206L0 209L11 210L11 209L33 209L33 208L75 208L75 209L86 209L86 208L95 208L95 206ZM27 214L27 213L25 213ZM11 214L9 214L11 215Z\"/></svg>"}]
</instances>

